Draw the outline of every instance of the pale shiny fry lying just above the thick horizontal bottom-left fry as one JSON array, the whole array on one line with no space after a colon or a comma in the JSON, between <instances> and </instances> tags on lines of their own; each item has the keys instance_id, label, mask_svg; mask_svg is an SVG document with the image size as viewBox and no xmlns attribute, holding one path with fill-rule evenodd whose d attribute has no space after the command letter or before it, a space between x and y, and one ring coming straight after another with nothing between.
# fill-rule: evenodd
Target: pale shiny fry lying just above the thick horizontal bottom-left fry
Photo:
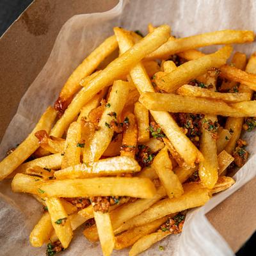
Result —
<instances>
[{"instance_id":1,"label":"pale shiny fry lying just above the thick horizontal bottom-left fry","mask_svg":"<svg viewBox=\"0 0 256 256\"><path fill-rule=\"evenodd\" d=\"M56 179L84 179L100 176L120 175L122 173L140 172L140 165L132 157L117 156L101 159L88 164L77 164L54 172Z\"/></svg>"}]
</instances>

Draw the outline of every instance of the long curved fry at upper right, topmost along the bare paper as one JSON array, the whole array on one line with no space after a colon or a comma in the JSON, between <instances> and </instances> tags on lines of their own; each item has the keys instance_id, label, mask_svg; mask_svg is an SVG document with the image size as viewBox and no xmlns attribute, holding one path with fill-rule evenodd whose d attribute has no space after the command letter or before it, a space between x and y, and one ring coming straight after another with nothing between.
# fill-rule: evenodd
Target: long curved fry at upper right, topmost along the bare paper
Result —
<instances>
[{"instance_id":1,"label":"long curved fry at upper right, topmost along the bare paper","mask_svg":"<svg viewBox=\"0 0 256 256\"><path fill-rule=\"evenodd\" d=\"M177 52L184 52L191 49L196 49L208 45L215 44L243 44L254 40L253 31L239 30L223 30L204 33L201 35L188 36L168 40L165 44L159 47L156 51L147 56L148 60L152 59L168 59L168 57Z\"/></svg>"}]
</instances>

